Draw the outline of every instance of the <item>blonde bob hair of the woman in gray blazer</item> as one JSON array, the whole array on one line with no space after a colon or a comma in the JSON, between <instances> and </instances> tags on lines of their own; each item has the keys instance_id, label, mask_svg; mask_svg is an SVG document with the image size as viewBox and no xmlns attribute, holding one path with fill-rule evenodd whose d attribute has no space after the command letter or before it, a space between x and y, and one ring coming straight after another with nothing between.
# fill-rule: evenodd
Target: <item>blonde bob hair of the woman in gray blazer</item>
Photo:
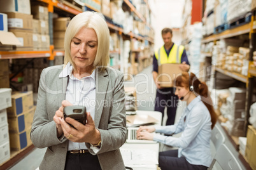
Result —
<instances>
[{"instance_id":1,"label":"blonde bob hair of the woman in gray blazer","mask_svg":"<svg viewBox=\"0 0 256 170\"><path fill-rule=\"evenodd\" d=\"M71 54L70 44L73 37L82 27L94 29L97 35L97 53L94 60L94 67L101 67L100 70L106 69L110 60L110 30L104 16L101 13L85 11L76 15L68 25L64 39L64 65L70 62L76 70Z\"/></svg>"}]
</instances>

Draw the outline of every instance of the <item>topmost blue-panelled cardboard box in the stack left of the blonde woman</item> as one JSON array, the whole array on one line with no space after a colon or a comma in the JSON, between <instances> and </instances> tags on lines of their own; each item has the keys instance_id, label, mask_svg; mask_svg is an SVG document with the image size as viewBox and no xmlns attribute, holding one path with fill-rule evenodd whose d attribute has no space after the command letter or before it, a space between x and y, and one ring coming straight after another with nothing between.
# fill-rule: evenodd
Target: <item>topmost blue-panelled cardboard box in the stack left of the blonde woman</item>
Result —
<instances>
[{"instance_id":1,"label":"topmost blue-panelled cardboard box in the stack left of the blonde woman","mask_svg":"<svg viewBox=\"0 0 256 170\"><path fill-rule=\"evenodd\" d=\"M25 111L33 108L33 94L32 91L14 92L11 95L12 107L7 108L8 116L18 116Z\"/></svg>"}]
</instances>

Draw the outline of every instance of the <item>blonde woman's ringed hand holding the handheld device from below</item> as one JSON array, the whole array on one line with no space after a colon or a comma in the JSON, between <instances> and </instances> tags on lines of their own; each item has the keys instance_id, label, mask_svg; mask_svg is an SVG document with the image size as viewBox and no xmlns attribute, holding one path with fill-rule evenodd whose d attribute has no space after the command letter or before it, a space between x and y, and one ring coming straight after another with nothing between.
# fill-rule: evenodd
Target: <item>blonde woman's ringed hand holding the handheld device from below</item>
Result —
<instances>
[{"instance_id":1,"label":"blonde woman's ringed hand holding the handheld device from below","mask_svg":"<svg viewBox=\"0 0 256 170\"><path fill-rule=\"evenodd\" d=\"M71 127L68 123L72 124L75 128ZM66 121L62 119L61 126L66 138L73 142L87 142L95 144L101 140L101 133L95 128L90 112L87 112L87 123L85 125L75 119L67 117Z\"/></svg>"}]
</instances>

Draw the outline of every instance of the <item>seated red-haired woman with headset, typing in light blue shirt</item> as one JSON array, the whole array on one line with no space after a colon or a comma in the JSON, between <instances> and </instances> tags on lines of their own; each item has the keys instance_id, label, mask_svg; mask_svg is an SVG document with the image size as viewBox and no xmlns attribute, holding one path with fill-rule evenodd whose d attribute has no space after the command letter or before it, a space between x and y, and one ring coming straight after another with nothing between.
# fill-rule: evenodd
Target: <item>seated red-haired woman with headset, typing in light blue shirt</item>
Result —
<instances>
[{"instance_id":1,"label":"seated red-haired woman with headset, typing in light blue shirt","mask_svg":"<svg viewBox=\"0 0 256 170\"><path fill-rule=\"evenodd\" d=\"M178 147L159 153L159 167L165 169L208 169L211 164L210 138L217 115L212 106L205 82L196 75L183 72L176 77L175 95L187 101L180 120L171 126L141 126L137 131L139 140L154 140L165 145ZM179 138L162 134L181 133Z\"/></svg>"}]
</instances>

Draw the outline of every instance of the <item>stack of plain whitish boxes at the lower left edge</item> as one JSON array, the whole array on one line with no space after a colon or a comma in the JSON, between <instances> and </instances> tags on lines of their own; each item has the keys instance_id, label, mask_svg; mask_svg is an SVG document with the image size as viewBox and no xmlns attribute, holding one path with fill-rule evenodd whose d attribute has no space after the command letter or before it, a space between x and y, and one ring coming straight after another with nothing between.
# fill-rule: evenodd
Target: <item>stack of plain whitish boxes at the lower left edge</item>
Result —
<instances>
[{"instance_id":1,"label":"stack of plain whitish boxes at the lower left edge","mask_svg":"<svg viewBox=\"0 0 256 170\"><path fill-rule=\"evenodd\" d=\"M10 140L6 108L11 107L11 89L0 88L0 164L10 159Z\"/></svg>"}]
</instances>

